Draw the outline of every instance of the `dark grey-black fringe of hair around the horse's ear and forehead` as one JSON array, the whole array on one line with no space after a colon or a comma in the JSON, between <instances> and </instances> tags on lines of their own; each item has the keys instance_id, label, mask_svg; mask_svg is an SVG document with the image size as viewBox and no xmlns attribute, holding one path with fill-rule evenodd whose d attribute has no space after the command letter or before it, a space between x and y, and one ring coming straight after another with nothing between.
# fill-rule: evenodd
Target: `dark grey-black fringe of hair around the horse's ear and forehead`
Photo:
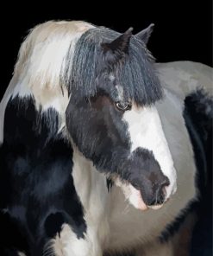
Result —
<instances>
[{"instance_id":1,"label":"dark grey-black fringe of hair around the horse's ear and forehead","mask_svg":"<svg viewBox=\"0 0 213 256\"><path fill-rule=\"evenodd\" d=\"M97 75L105 71L106 74L116 74L116 80L129 99L140 106L151 105L161 99L163 93L153 68L153 57L141 40L131 36L128 54L115 61L114 65L103 65L106 61L102 43L112 42L119 35L111 29L89 29L81 35L74 55L72 51L66 55L65 74L61 75L68 92L78 90L82 96L94 96L97 93Z\"/></svg>"}]
</instances>

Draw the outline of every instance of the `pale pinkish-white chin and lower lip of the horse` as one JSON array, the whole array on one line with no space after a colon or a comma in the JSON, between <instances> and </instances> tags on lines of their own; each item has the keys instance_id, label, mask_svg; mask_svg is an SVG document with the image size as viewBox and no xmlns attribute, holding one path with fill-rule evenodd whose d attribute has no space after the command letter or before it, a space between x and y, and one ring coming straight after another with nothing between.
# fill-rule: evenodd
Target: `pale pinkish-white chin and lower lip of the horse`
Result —
<instances>
[{"instance_id":1,"label":"pale pinkish-white chin and lower lip of the horse","mask_svg":"<svg viewBox=\"0 0 213 256\"><path fill-rule=\"evenodd\" d=\"M119 179L116 180L116 185L122 189L122 192L128 202L135 208L145 211L149 208L153 210L158 210L162 208L163 204L148 206L142 198L141 191L135 189L130 183L123 183Z\"/></svg>"}]
</instances>

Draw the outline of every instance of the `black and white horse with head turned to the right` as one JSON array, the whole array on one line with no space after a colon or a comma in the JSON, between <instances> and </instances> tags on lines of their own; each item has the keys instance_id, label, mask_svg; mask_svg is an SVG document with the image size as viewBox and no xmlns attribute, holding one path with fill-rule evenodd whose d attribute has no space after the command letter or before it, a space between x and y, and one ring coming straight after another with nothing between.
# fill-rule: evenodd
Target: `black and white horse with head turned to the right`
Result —
<instances>
[{"instance_id":1,"label":"black and white horse with head turned to the right","mask_svg":"<svg viewBox=\"0 0 213 256\"><path fill-rule=\"evenodd\" d=\"M208 169L212 71L155 63L153 24L132 31L50 21L22 42L0 105L1 255L173 255Z\"/></svg>"}]
</instances>

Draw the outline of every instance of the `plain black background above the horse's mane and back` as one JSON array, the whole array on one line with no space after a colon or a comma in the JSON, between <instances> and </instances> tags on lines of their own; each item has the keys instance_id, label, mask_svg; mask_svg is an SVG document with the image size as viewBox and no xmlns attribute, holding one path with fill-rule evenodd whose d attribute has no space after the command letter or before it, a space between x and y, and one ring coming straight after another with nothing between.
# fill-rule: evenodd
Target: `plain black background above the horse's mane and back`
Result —
<instances>
[{"instance_id":1,"label":"plain black background above the horse's mane and back","mask_svg":"<svg viewBox=\"0 0 213 256\"><path fill-rule=\"evenodd\" d=\"M117 4L117 5L116 5ZM155 24L148 48L157 61L198 61L212 66L212 4L203 1L114 1L8 3L1 8L0 99L11 79L18 49L28 29L51 19L85 20L119 32L135 33Z\"/></svg>"}]
</instances>

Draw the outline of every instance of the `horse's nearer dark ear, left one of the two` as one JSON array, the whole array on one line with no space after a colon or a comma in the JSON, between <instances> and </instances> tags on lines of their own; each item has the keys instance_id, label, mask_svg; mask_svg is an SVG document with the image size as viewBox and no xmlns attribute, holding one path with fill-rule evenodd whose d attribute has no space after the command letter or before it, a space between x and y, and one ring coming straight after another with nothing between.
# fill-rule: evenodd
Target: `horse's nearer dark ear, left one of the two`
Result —
<instances>
[{"instance_id":1,"label":"horse's nearer dark ear, left one of the two","mask_svg":"<svg viewBox=\"0 0 213 256\"><path fill-rule=\"evenodd\" d=\"M128 45L132 36L133 28L129 28L122 35L119 35L114 41L107 43L103 42L103 51L111 50L113 53L128 53Z\"/></svg>"}]
</instances>

